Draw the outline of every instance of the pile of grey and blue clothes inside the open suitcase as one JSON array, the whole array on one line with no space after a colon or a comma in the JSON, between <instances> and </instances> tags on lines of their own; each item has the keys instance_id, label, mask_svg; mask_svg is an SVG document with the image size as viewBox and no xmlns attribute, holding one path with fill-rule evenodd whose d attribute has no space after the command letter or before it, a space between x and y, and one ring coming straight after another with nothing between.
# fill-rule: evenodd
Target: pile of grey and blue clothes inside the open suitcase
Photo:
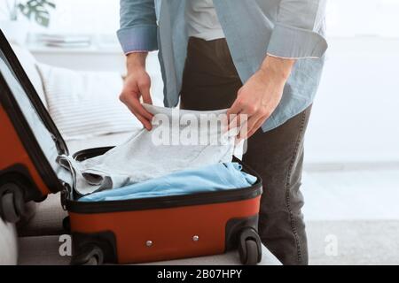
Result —
<instances>
[{"instance_id":1,"label":"pile of grey and blue clothes inside the open suitcase","mask_svg":"<svg viewBox=\"0 0 399 283\"><path fill-rule=\"evenodd\" d=\"M179 111L176 116L176 110L152 105L145 107L154 115L152 131L138 131L128 142L103 156L82 162L59 156L59 164L72 173L74 193L81 201L184 195L254 184L254 176L242 172L238 163L231 162L237 129L224 131L218 123L226 110ZM206 127L179 123L180 117L200 120L204 115L209 118ZM200 133L208 142L173 143L176 134L188 130ZM169 142L154 141L159 133L168 133Z\"/></svg>"}]
</instances>

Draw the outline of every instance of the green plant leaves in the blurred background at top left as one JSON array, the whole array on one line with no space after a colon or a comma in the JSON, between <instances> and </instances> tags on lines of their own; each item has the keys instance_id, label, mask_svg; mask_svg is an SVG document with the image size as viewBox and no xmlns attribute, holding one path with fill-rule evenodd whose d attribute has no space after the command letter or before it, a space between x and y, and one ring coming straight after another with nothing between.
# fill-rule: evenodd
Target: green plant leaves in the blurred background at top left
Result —
<instances>
[{"instance_id":1,"label":"green plant leaves in the blurred background at top left","mask_svg":"<svg viewBox=\"0 0 399 283\"><path fill-rule=\"evenodd\" d=\"M56 5L49 0L28 0L20 2L13 0L12 4L7 2L10 18L12 20L18 19L18 14L21 13L27 19L35 19L35 22L43 27L48 27L50 24L50 9L55 9Z\"/></svg>"}]
</instances>

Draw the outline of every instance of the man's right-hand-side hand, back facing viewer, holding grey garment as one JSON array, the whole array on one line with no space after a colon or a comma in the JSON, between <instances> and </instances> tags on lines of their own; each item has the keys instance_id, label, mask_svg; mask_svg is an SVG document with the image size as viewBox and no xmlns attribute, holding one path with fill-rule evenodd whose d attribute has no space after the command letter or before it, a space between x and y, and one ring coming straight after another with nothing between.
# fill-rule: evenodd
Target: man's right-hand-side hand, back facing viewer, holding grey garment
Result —
<instances>
[{"instance_id":1,"label":"man's right-hand-side hand, back facing viewer, holding grey garment","mask_svg":"<svg viewBox=\"0 0 399 283\"><path fill-rule=\"evenodd\" d=\"M261 68L239 88L236 101L227 112L230 126L240 125L239 115L247 115L246 133L241 131L238 140L249 138L277 108L283 95L286 80L294 64L293 59L267 56ZM237 115L231 119L230 115Z\"/></svg>"}]
</instances>

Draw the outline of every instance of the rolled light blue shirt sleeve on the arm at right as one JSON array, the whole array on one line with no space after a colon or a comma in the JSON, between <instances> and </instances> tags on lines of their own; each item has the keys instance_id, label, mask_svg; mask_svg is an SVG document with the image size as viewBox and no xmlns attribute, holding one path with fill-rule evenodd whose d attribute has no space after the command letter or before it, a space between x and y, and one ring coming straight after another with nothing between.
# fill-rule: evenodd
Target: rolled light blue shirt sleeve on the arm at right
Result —
<instances>
[{"instance_id":1,"label":"rolled light blue shirt sleeve on the arm at right","mask_svg":"<svg viewBox=\"0 0 399 283\"><path fill-rule=\"evenodd\" d=\"M268 55L283 58L319 58L327 50L321 34L326 0L281 0Z\"/></svg>"}]
</instances>

